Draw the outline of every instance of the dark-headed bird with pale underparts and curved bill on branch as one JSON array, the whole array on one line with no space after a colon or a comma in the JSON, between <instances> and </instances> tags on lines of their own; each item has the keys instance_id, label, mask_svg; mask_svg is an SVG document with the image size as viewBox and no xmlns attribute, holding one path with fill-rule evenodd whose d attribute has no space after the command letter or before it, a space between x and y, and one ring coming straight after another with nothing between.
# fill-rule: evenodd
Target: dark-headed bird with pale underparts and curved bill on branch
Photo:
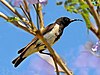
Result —
<instances>
[{"instance_id":1,"label":"dark-headed bird with pale underparts and curved bill on branch","mask_svg":"<svg viewBox=\"0 0 100 75\"><path fill-rule=\"evenodd\" d=\"M82 20L70 19L68 17L60 17L54 23L44 28L44 30L41 33L44 36L45 40L50 44L50 46L53 46L60 39L64 29L71 22L74 21L82 21ZM17 67L25 58L27 58L28 56L30 56L35 52L47 54L43 52L46 49L47 47L45 46L45 44L39 38L34 37L34 39L27 46L18 51L19 56L15 58L12 61L12 63L14 64L14 67Z\"/></svg>"}]
</instances>

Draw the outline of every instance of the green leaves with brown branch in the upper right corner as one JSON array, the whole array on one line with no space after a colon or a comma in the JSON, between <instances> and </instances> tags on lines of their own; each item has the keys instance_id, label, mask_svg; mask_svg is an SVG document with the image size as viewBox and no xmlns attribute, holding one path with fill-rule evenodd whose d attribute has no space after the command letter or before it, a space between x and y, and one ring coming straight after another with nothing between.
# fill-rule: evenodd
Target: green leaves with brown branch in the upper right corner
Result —
<instances>
[{"instance_id":1,"label":"green leaves with brown branch in the upper right corner","mask_svg":"<svg viewBox=\"0 0 100 75\"><path fill-rule=\"evenodd\" d=\"M100 0L66 0L59 3L62 2L67 11L82 15L87 28L94 32L94 34L100 39L100 27L98 26L100 25ZM96 30L93 24L91 25L91 16L95 20L98 30ZM97 33L99 35L97 35Z\"/></svg>"}]
</instances>

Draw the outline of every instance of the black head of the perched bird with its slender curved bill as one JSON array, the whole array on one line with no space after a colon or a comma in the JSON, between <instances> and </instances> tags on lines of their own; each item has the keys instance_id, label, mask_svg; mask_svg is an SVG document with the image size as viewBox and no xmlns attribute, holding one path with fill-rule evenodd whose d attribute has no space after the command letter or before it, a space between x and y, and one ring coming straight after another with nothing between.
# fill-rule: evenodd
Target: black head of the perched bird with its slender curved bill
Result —
<instances>
[{"instance_id":1,"label":"black head of the perched bird with its slender curved bill","mask_svg":"<svg viewBox=\"0 0 100 75\"><path fill-rule=\"evenodd\" d=\"M57 23L58 25L63 25L64 27L66 27L71 22L74 22L74 21L82 21L82 20L80 20L80 19L70 19L68 17L61 17L61 18L57 19L55 23Z\"/></svg>"}]
</instances>

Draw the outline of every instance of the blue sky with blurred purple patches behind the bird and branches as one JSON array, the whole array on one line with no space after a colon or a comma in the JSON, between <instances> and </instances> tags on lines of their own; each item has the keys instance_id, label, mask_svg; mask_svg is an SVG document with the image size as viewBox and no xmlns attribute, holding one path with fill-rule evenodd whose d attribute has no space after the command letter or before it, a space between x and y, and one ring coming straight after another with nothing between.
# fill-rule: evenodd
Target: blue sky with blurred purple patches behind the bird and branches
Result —
<instances>
[{"instance_id":1,"label":"blue sky with blurred purple patches behind the bird and branches","mask_svg":"<svg viewBox=\"0 0 100 75\"><path fill-rule=\"evenodd\" d=\"M11 15L1 3L0 12ZM82 19L81 15L69 13L63 6L57 6L55 0L49 0L43 7L43 12L45 26L61 16ZM26 46L33 37L0 18L0 75L55 75L54 68L37 54L29 56L17 68L13 67L11 61L18 56L17 51ZM84 48L88 41L95 43L97 39L91 32L87 32L85 22L73 22L65 28L61 39L53 46L74 75L100 75L100 59Z\"/></svg>"}]
</instances>

